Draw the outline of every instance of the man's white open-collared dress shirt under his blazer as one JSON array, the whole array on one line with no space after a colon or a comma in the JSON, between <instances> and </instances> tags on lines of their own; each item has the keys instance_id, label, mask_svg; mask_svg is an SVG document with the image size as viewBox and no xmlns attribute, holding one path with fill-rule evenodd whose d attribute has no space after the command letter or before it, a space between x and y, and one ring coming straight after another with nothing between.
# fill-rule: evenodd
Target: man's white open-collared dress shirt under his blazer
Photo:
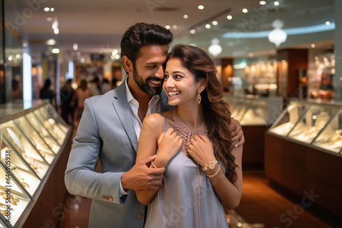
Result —
<instances>
[{"instance_id":1,"label":"man's white open-collared dress shirt under his blazer","mask_svg":"<svg viewBox=\"0 0 342 228\"><path fill-rule=\"evenodd\" d=\"M142 122L139 119L139 116L137 115L137 110L139 109L139 102L135 100L133 97L131 90L129 90L128 86L128 76L126 79L124 79L124 84L126 85L126 93L127 93L127 102L129 103L130 113L131 113L131 119L133 122L135 134L137 135L137 140L139 141L140 137L140 131L142 130ZM152 97L150 102L148 102L148 109L146 115L149 115L151 113L160 113L160 102L159 102L159 95L155 95ZM125 191L122 188L122 184L120 182L120 196L129 194L129 191Z\"/></svg>"}]
</instances>

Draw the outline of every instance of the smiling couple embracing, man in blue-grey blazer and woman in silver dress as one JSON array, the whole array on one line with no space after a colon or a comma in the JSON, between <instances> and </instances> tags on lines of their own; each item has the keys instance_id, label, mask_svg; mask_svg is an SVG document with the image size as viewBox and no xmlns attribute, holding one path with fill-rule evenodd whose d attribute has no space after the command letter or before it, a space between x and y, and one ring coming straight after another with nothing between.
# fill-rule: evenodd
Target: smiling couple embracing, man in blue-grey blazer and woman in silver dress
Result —
<instances>
[{"instance_id":1,"label":"smiling couple embracing, man in blue-grey blazer and woman in silver dress","mask_svg":"<svg viewBox=\"0 0 342 228\"><path fill-rule=\"evenodd\" d=\"M159 25L130 27L121 42L129 76L85 102L65 180L71 194L93 199L90 227L144 227L142 203L151 201L146 227L224 227L221 203L239 203L241 147L233 141L244 143L241 127L232 119L228 129L207 54L181 45L168 55L170 42L172 33ZM101 173L94 172L98 158Z\"/></svg>"}]
</instances>

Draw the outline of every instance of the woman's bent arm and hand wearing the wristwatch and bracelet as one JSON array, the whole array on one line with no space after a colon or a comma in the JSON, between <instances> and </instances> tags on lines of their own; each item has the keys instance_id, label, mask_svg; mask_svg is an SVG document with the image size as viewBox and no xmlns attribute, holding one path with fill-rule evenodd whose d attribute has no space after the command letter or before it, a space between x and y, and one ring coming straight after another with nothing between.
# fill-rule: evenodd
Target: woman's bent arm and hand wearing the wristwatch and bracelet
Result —
<instances>
[{"instance_id":1,"label":"woman's bent arm and hand wearing the wristwatch and bracelet","mask_svg":"<svg viewBox=\"0 0 342 228\"><path fill-rule=\"evenodd\" d=\"M194 139L190 139L190 143L191 145L189 145L187 152L199 165L205 167L208 162L215 160L213 146L207 137L203 135L195 136ZM233 210L239 205L242 195L242 146L235 147L232 154L235 156L235 164L237 165L235 169L237 180L234 183L226 178L226 175L218 164L215 165L214 169L205 171L208 176L213 175L213 177L209 177L211 184L213 185L216 195L218 195L218 198L228 210ZM218 173L214 175L217 171Z\"/></svg>"}]
</instances>

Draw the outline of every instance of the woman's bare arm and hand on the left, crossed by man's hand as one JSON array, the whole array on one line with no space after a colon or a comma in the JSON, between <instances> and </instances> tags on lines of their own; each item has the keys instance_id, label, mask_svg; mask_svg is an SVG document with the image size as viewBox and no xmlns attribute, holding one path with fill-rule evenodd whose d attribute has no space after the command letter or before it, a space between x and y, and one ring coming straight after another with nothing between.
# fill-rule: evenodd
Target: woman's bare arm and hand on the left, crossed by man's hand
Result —
<instances>
[{"instance_id":1,"label":"woman's bare arm and hand on the left, crossed by man's hand","mask_svg":"<svg viewBox=\"0 0 342 228\"><path fill-rule=\"evenodd\" d=\"M154 165L161 168L166 167L171 158L179 151L183 140L172 128L163 132L163 121L159 114L151 114L145 117L140 132L139 144L137 145L136 162L157 154ZM153 169L153 168L151 168ZM157 194L157 190L135 191L140 203L148 205Z\"/></svg>"}]
</instances>

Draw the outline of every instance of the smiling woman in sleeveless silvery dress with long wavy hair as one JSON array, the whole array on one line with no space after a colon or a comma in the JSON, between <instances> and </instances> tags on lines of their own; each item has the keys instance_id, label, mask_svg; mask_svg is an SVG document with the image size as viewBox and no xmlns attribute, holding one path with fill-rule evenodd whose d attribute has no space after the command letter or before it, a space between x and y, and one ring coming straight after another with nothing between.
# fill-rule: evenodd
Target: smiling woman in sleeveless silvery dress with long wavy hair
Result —
<instances>
[{"instance_id":1,"label":"smiling woman in sleeveless silvery dress with long wavy hair","mask_svg":"<svg viewBox=\"0 0 342 228\"><path fill-rule=\"evenodd\" d=\"M241 199L242 147L233 148L213 61L195 46L174 46L163 89L178 108L148 115L137 149L137 160L157 151L151 169L166 167L158 191L136 192L150 204L145 227L228 227L222 204L232 210Z\"/></svg>"}]
</instances>

